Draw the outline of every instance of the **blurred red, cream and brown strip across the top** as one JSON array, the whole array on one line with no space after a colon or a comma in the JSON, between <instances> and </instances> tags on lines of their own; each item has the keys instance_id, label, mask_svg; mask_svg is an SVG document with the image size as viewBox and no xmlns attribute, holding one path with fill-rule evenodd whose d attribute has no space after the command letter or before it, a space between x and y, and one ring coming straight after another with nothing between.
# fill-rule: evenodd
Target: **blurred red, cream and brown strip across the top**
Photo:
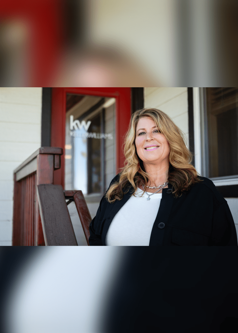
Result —
<instances>
[{"instance_id":1,"label":"blurred red, cream and brown strip across the top","mask_svg":"<svg viewBox=\"0 0 238 333\"><path fill-rule=\"evenodd\" d=\"M235 0L2 1L1 86L234 86Z\"/></svg>"}]
</instances>

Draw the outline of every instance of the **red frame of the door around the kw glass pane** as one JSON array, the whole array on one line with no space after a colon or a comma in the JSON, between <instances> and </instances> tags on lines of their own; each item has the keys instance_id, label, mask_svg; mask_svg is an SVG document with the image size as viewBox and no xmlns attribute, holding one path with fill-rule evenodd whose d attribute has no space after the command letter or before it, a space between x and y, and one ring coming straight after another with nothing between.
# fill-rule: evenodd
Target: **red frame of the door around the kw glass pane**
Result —
<instances>
[{"instance_id":1,"label":"red frame of the door around the kw glass pane","mask_svg":"<svg viewBox=\"0 0 238 333\"><path fill-rule=\"evenodd\" d=\"M131 88L52 88L51 146L63 148L61 168L54 171L54 183L65 184L65 120L66 94L116 98L116 170L124 165L122 152L124 135L131 116Z\"/></svg>"}]
</instances>

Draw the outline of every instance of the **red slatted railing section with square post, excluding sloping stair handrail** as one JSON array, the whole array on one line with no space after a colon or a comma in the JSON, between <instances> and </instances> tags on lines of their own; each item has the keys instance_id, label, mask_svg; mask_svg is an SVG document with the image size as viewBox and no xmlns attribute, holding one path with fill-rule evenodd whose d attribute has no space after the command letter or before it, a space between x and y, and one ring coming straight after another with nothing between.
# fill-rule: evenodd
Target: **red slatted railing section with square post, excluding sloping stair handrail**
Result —
<instances>
[{"instance_id":1,"label":"red slatted railing section with square post, excluding sloping stair handrail","mask_svg":"<svg viewBox=\"0 0 238 333\"><path fill-rule=\"evenodd\" d=\"M45 245L37 185L54 184L62 148L41 147L14 170L13 245Z\"/></svg>"}]
</instances>

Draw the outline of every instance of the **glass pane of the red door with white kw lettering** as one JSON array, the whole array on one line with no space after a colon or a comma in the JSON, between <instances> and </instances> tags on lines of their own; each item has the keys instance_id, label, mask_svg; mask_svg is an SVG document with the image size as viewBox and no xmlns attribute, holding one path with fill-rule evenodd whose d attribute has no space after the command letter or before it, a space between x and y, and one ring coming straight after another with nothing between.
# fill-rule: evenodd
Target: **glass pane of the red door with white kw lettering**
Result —
<instances>
[{"instance_id":1,"label":"glass pane of the red door with white kw lettering","mask_svg":"<svg viewBox=\"0 0 238 333\"><path fill-rule=\"evenodd\" d=\"M98 200L116 174L115 98L67 94L65 189Z\"/></svg>"}]
</instances>

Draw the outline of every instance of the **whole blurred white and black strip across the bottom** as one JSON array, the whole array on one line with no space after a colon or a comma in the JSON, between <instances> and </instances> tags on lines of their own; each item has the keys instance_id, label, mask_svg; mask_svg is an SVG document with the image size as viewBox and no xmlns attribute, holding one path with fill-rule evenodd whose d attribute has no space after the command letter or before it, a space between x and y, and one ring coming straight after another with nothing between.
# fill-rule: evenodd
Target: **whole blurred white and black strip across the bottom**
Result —
<instances>
[{"instance_id":1,"label":"whole blurred white and black strip across the bottom","mask_svg":"<svg viewBox=\"0 0 238 333\"><path fill-rule=\"evenodd\" d=\"M0 252L1 333L237 332L237 247L15 250Z\"/></svg>"}]
</instances>

